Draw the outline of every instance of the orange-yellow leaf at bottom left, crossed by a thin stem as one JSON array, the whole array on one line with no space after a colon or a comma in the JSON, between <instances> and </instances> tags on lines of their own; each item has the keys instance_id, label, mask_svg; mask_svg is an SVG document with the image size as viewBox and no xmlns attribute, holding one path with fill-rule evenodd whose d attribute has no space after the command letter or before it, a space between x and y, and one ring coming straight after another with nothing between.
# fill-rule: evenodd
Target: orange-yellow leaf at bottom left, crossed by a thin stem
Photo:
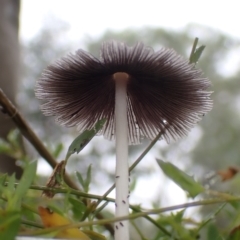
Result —
<instances>
[{"instance_id":1,"label":"orange-yellow leaf at bottom left, crossed by a thin stem","mask_svg":"<svg viewBox=\"0 0 240 240\"><path fill-rule=\"evenodd\" d=\"M71 224L70 220L59 215L58 213L52 212L48 208L38 207L38 212L45 228ZM85 233L80 231L78 228L68 228L65 230L60 230L55 237L79 240L91 240Z\"/></svg>"}]
</instances>

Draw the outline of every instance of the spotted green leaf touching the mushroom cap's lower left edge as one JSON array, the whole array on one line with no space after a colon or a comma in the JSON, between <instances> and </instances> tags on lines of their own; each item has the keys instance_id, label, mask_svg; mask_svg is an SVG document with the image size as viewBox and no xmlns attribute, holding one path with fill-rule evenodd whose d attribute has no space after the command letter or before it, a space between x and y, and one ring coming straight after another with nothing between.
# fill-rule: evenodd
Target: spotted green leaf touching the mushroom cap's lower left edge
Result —
<instances>
[{"instance_id":1,"label":"spotted green leaf touching the mushroom cap's lower left edge","mask_svg":"<svg viewBox=\"0 0 240 240\"><path fill-rule=\"evenodd\" d=\"M91 130L85 130L78 137L76 137L68 148L65 160L76 153L79 153L90 141L91 139L102 129L105 119L99 120Z\"/></svg>"}]
</instances>

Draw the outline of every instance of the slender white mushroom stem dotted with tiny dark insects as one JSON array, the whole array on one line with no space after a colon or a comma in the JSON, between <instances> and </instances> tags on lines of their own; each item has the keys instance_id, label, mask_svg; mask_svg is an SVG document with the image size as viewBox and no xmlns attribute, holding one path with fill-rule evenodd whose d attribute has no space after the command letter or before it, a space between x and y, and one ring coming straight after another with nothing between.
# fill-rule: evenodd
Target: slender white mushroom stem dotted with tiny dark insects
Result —
<instances>
[{"instance_id":1,"label":"slender white mushroom stem dotted with tiny dark insects","mask_svg":"<svg viewBox=\"0 0 240 240\"><path fill-rule=\"evenodd\" d=\"M128 74L114 74L115 91L115 136L116 136L116 210L115 216L129 214L129 173L128 173L128 122L127 82ZM115 223L115 240L129 240L128 221Z\"/></svg>"}]
</instances>

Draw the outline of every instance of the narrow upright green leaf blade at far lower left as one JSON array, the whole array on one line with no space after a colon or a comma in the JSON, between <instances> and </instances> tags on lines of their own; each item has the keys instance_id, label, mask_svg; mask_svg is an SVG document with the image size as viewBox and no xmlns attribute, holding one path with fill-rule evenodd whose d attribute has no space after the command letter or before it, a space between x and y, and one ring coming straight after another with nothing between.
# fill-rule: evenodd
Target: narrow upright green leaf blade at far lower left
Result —
<instances>
[{"instance_id":1,"label":"narrow upright green leaf blade at far lower left","mask_svg":"<svg viewBox=\"0 0 240 240\"><path fill-rule=\"evenodd\" d=\"M29 163L19 181L15 193L11 199L9 199L9 206L8 209L11 210L20 210L21 200L25 196L27 190L29 189L37 169L37 162Z\"/></svg>"}]
</instances>

